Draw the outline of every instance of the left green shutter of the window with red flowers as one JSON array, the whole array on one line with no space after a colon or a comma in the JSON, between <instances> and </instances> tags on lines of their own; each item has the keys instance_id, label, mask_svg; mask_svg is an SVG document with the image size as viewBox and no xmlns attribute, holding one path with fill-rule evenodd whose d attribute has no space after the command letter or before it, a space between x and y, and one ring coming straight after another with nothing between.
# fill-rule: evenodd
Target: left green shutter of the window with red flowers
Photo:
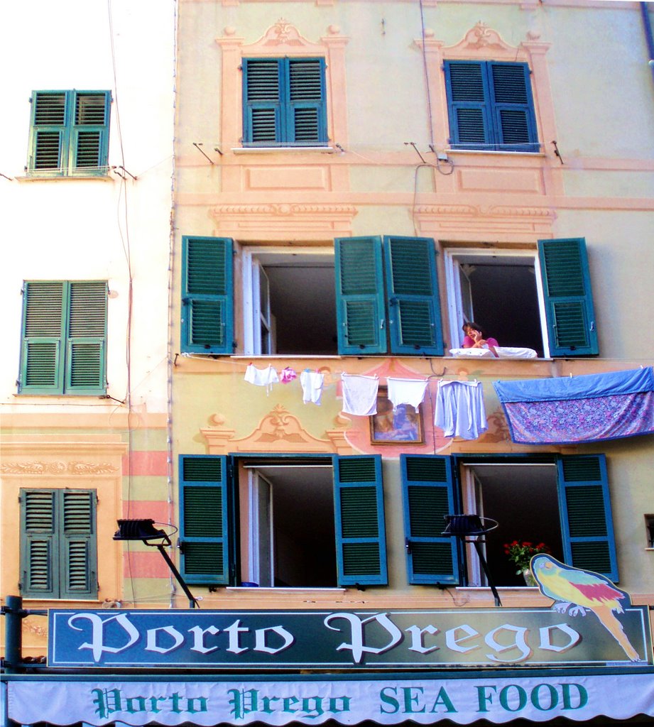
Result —
<instances>
[{"instance_id":1,"label":"left green shutter of the window with red flowers","mask_svg":"<svg viewBox=\"0 0 654 727\"><path fill-rule=\"evenodd\" d=\"M455 511L450 457L402 454L400 466L409 582L458 584L458 541L442 535Z\"/></svg>"}]
</instances>

